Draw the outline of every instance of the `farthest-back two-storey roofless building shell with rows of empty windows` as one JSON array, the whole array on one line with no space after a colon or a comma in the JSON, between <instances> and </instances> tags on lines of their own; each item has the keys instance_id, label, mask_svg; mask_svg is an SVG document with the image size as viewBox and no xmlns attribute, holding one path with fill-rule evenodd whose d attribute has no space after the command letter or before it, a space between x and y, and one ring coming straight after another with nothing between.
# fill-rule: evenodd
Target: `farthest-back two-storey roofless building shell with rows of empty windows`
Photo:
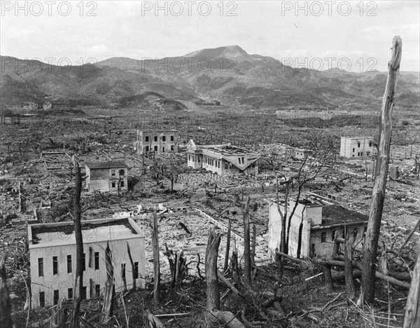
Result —
<instances>
[{"instance_id":1,"label":"farthest-back two-storey roofless building shell with rows of empty windows","mask_svg":"<svg viewBox=\"0 0 420 328\"><path fill-rule=\"evenodd\" d=\"M137 153L177 153L177 130L137 130L137 141L134 142Z\"/></svg>"}]
</instances>

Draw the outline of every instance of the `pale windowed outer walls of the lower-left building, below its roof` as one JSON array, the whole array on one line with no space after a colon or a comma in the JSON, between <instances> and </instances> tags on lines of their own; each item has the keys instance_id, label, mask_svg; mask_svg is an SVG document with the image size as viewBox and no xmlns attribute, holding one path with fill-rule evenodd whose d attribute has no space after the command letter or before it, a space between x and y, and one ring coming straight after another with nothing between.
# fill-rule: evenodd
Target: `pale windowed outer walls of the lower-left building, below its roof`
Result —
<instances>
[{"instance_id":1,"label":"pale windowed outer walls of the lower-left building, below its roof","mask_svg":"<svg viewBox=\"0 0 420 328\"><path fill-rule=\"evenodd\" d=\"M92 235L94 238L94 235ZM125 277L127 289L132 287L132 267L127 253L127 242L134 262L139 262L139 278L136 283L138 287L145 287L145 248L144 237L135 236L123 240L110 240L109 247L112 251L112 261L114 268L114 278L116 291L123 288L121 264L125 264ZM45 306L54 305L54 290L59 291L59 297L67 299L68 289L74 287L76 279L76 245L32 245L30 248L31 261L31 289L32 307L38 308L39 292L45 292ZM100 285L101 293L104 291L106 281L105 266L106 241L85 242L83 250L85 252L86 271L83 272L83 286L86 286L87 299L90 299L94 292L94 285ZM99 270L94 268L94 252L99 252ZM67 255L71 255L72 272L67 273ZM58 259L58 273L52 275L52 257ZM43 258L43 277L38 276L38 258ZM90 266L89 266L90 263ZM74 294L74 292L73 292Z\"/></svg>"}]
</instances>

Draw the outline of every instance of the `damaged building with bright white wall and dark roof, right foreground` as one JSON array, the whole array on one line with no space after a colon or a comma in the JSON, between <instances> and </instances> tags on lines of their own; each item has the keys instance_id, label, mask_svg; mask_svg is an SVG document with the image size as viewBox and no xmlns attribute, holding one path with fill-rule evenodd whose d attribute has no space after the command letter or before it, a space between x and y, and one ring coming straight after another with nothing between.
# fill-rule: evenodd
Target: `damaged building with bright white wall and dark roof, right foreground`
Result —
<instances>
[{"instance_id":1,"label":"damaged building with bright white wall and dark roof, right foreground","mask_svg":"<svg viewBox=\"0 0 420 328\"><path fill-rule=\"evenodd\" d=\"M288 216L295 201L288 201ZM280 210L284 213L284 203ZM354 245L362 245L368 217L346 210L339 205L323 205L311 200L299 200L290 221L288 254L296 257L300 243L301 257L332 256L335 238L344 238L344 228L353 233ZM300 233L300 224L302 229ZM286 221L286 229L288 222ZM276 203L269 205L269 241L272 254L280 249L281 216Z\"/></svg>"}]
</instances>

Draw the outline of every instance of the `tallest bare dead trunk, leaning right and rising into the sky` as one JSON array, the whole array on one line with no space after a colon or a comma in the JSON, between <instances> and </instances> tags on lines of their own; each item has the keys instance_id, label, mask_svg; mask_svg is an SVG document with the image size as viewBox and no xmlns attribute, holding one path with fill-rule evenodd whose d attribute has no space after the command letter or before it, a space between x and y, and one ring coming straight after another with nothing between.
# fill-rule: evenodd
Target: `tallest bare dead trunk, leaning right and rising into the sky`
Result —
<instances>
[{"instance_id":1,"label":"tallest bare dead trunk, leaning right and rising into the sky","mask_svg":"<svg viewBox=\"0 0 420 328\"><path fill-rule=\"evenodd\" d=\"M402 40L400 36L393 38L392 56L388 62L388 78L384 98L382 99L381 121L379 125L379 146L374 172L374 184L372 191L372 203L370 204L369 221L365 237L365 252L363 254L362 270L362 297L363 301L372 303L374 301L375 283L375 262L377 260L377 249L379 231L381 229L382 211L386 191L386 176L388 173L389 149L391 146L392 133L392 110L397 87L398 71L402 55Z\"/></svg>"}]
</instances>

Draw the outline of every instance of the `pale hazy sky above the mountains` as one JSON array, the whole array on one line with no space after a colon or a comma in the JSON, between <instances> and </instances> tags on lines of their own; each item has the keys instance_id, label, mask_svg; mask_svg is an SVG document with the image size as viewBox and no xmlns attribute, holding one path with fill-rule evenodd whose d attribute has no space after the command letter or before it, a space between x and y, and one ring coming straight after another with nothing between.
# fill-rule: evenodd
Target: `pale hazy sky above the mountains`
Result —
<instances>
[{"instance_id":1,"label":"pale hazy sky above the mountains","mask_svg":"<svg viewBox=\"0 0 420 328\"><path fill-rule=\"evenodd\" d=\"M400 35L401 70L420 70L420 1L0 2L1 55L52 64L238 45L293 67L384 71Z\"/></svg>"}]
</instances>

